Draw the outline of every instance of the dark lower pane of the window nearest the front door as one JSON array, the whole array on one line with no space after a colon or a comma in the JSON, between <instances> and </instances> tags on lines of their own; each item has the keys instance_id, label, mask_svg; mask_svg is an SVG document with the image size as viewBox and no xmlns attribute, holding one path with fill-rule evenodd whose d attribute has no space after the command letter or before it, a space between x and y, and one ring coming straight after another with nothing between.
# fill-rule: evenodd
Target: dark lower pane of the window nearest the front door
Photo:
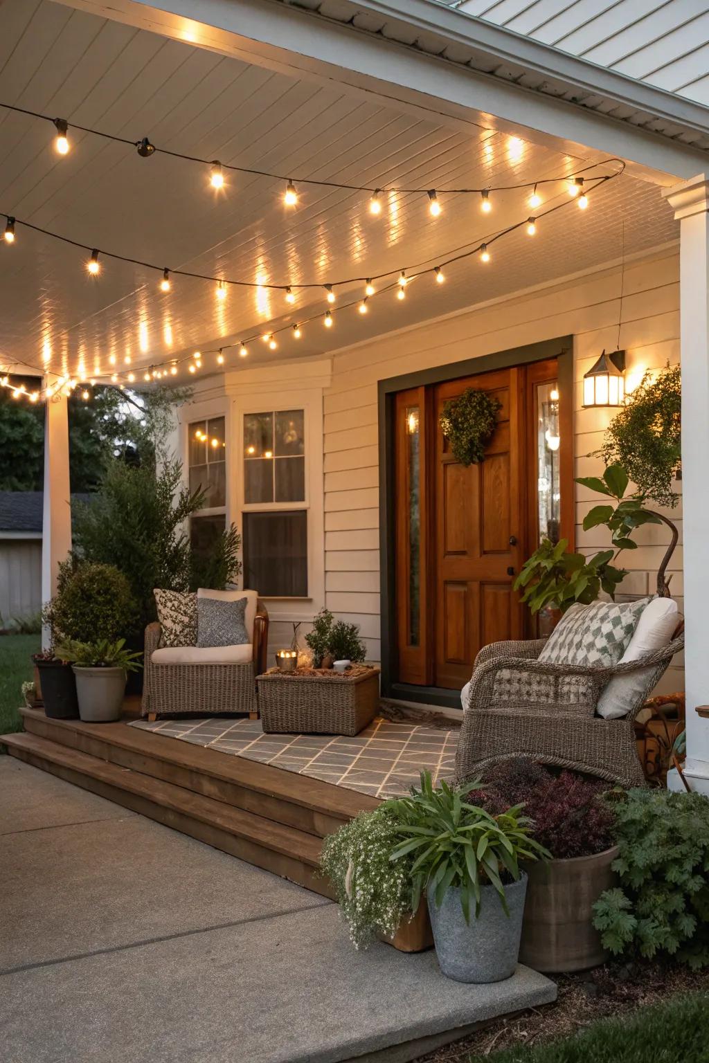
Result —
<instances>
[{"instance_id":1,"label":"dark lower pane of the window nearest the front door","mask_svg":"<svg viewBox=\"0 0 709 1063\"><path fill-rule=\"evenodd\" d=\"M307 597L307 512L242 518L243 586L263 597Z\"/></svg>"}]
</instances>

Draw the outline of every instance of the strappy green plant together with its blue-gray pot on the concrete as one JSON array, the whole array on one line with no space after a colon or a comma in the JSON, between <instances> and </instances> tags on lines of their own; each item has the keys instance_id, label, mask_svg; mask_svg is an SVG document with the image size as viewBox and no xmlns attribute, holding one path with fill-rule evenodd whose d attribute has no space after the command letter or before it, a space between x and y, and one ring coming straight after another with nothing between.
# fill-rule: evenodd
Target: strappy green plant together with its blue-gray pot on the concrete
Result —
<instances>
[{"instance_id":1,"label":"strappy green plant together with its blue-gray pot on the concrete","mask_svg":"<svg viewBox=\"0 0 709 1063\"><path fill-rule=\"evenodd\" d=\"M460 982L509 978L517 965L527 876L524 861L545 859L533 823L516 805L497 815L470 804L470 786L421 790L392 800L404 836L392 860L415 857L411 910L426 891L436 955L443 974Z\"/></svg>"}]
</instances>

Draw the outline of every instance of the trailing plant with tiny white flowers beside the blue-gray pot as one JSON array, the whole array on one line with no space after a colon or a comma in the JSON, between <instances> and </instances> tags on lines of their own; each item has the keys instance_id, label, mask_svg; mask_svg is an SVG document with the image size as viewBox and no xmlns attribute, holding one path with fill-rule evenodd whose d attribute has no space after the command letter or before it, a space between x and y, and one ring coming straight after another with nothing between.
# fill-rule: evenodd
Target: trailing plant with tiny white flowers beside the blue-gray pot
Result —
<instances>
[{"instance_id":1,"label":"trailing plant with tiny white flowers beside the blue-gray pot","mask_svg":"<svg viewBox=\"0 0 709 1063\"><path fill-rule=\"evenodd\" d=\"M391 861L401 840L393 809L381 805L322 844L321 868L335 887L355 948L366 947L377 933L392 937L408 911L413 858Z\"/></svg>"}]
</instances>

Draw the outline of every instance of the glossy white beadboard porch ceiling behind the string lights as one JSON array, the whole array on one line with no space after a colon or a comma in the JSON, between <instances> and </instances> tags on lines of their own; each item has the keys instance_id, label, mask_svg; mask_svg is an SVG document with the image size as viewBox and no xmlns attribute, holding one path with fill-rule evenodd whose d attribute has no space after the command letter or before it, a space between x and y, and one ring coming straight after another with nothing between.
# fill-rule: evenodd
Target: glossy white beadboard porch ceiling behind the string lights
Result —
<instances>
[{"instance_id":1,"label":"glossy white beadboard porch ceiling behind the string lights","mask_svg":"<svg viewBox=\"0 0 709 1063\"><path fill-rule=\"evenodd\" d=\"M283 184L231 174L222 193L208 171L162 155L141 159L132 148L70 131L71 151L52 149L47 123L0 111L0 210L90 247L159 266L274 284L325 284L405 266L434 266L529 214L526 195L493 196L484 216L473 198L446 197L446 186L507 184L583 166L547 148L477 125L461 132L383 107L330 82L299 82L188 44L136 31L51 0L0 3L0 100L69 122L223 163L298 178L439 189L443 214L428 216L425 198L389 196L378 219L367 196L301 186L294 210ZM554 186L550 204L567 201ZM537 283L631 254L677 236L659 188L629 176L500 241L492 261L452 266L446 281L411 284L370 300L370 313L340 309L303 338L286 335L277 351L254 342L249 365L311 357L393 328L494 299ZM543 212L543 207L538 214ZM99 279L86 255L18 224L17 240L0 241L0 364L19 362L101 376L214 350L271 332L326 308L319 293L294 308L283 294L230 289L103 259ZM361 291L354 285L350 298ZM287 310L287 314L285 313ZM113 361L112 361L113 359ZM236 352L226 367L247 365ZM219 371L215 356L205 371ZM191 379L181 370L178 381Z\"/></svg>"}]
</instances>

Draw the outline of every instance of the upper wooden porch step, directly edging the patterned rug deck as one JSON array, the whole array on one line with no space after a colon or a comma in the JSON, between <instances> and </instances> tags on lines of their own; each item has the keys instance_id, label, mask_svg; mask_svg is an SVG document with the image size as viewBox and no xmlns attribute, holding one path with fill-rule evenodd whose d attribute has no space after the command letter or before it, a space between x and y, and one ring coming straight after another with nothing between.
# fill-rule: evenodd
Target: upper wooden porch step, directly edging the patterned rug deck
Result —
<instances>
[{"instance_id":1,"label":"upper wooden porch step, directly edging the patterned rug deck","mask_svg":"<svg viewBox=\"0 0 709 1063\"><path fill-rule=\"evenodd\" d=\"M87 724L52 720L37 709L21 712L28 733L317 838L379 804L354 790L129 727L124 721Z\"/></svg>"}]
</instances>

